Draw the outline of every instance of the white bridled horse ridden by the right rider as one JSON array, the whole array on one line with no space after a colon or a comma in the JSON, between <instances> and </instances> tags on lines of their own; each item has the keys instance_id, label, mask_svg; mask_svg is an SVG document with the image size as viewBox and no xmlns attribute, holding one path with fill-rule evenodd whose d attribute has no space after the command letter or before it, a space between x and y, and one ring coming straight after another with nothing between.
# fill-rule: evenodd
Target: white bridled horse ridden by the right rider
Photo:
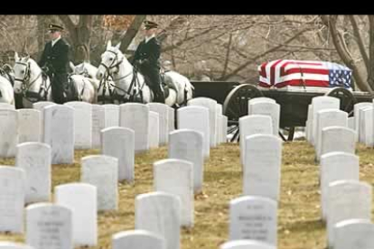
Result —
<instances>
[{"instance_id":1,"label":"white bridled horse ridden by the right rider","mask_svg":"<svg viewBox=\"0 0 374 249\"><path fill-rule=\"evenodd\" d=\"M97 78L111 76L116 84L117 93L123 99L142 103L151 102L154 94L145 84L145 78L138 72L134 73L133 66L119 51L119 46L120 43L116 47L112 47L111 42L108 42L107 51L101 55ZM187 78L176 72L165 74L164 77L165 82L173 86L173 88L169 88L169 95L165 97L167 106L182 105L192 98L193 87Z\"/></svg>"}]
</instances>

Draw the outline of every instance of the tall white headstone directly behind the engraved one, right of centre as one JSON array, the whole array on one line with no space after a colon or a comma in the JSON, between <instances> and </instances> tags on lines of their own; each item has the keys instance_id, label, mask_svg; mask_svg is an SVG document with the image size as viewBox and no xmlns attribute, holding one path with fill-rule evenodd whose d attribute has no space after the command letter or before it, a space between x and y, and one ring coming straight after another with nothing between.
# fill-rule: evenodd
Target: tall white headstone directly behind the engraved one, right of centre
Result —
<instances>
[{"instance_id":1,"label":"tall white headstone directly behind the engraved one, right of centre","mask_svg":"<svg viewBox=\"0 0 374 249\"><path fill-rule=\"evenodd\" d=\"M243 194L279 199L282 142L275 135L255 134L246 138Z\"/></svg>"}]
</instances>

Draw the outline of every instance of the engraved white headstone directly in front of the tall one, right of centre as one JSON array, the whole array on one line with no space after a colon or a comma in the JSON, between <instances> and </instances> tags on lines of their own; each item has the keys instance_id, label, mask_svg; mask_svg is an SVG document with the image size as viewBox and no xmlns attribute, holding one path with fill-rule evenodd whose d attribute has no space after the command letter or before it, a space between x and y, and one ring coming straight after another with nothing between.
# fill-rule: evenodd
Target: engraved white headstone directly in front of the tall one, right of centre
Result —
<instances>
[{"instance_id":1,"label":"engraved white headstone directly in front of the tall one, right of centre","mask_svg":"<svg viewBox=\"0 0 374 249\"><path fill-rule=\"evenodd\" d=\"M252 239L276 245L277 203L246 196L229 203L229 240Z\"/></svg>"}]
</instances>

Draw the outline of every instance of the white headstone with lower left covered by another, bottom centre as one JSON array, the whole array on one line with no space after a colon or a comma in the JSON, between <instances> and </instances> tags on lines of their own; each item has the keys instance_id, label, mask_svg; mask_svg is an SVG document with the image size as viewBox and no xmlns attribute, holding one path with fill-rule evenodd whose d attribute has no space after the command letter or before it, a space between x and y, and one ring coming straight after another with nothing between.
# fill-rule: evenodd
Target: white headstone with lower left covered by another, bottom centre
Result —
<instances>
[{"instance_id":1,"label":"white headstone with lower left covered by another, bottom centre","mask_svg":"<svg viewBox=\"0 0 374 249\"><path fill-rule=\"evenodd\" d=\"M165 159L154 162L154 191L181 198L181 225L193 226L193 165L190 161Z\"/></svg>"}]
</instances>

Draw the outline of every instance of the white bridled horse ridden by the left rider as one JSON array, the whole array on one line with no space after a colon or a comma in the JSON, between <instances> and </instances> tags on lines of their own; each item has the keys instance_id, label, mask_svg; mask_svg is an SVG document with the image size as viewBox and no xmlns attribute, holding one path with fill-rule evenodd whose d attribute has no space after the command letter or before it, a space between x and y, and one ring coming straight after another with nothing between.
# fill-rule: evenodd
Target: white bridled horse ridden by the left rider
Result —
<instances>
[{"instance_id":1,"label":"white bridled horse ridden by the left rider","mask_svg":"<svg viewBox=\"0 0 374 249\"><path fill-rule=\"evenodd\" d=\"M33 102L52 101L51 80L42 76L42 69L30 56L14 56L14 93L23 94L23 106L32 107ZM80 75L70 76L81 101L94 103L96 89L89 78Z\"/></svg>"}]
</instances>

